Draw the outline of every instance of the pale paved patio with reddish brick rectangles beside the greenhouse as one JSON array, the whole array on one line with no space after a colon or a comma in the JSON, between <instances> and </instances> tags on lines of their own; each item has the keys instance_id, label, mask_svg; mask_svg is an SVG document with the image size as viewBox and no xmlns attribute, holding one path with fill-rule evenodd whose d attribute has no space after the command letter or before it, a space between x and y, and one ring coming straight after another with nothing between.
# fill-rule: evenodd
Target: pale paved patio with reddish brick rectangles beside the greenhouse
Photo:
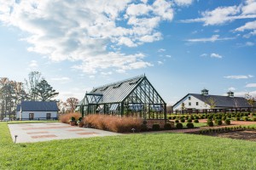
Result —
<instances>
[{"instance_id":1,"label":"pale paved patio with reddish brick rectangles beside the greenhouse","mask_svg":"<svg viewBox=\"0 0 256 170\"><path fill-rule=\"evenodd\" d=\"M94 128L73 127L61 122L9 124L11 137L16 143L42 142L54 139L78 139L96 136L113 136L120 133Z\"/></svg>"}]
</instances>

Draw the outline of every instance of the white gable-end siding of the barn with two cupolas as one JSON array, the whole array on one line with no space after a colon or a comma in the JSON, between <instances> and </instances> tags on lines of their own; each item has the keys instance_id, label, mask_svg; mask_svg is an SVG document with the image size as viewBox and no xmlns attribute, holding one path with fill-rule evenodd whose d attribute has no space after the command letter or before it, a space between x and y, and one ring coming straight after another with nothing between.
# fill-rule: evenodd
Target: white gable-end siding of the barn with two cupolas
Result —
<instances>
[{"instance_id":1,"label":"white gable-end siding of the barn with two cupolas","mask_svg":"<svg viewBox=\"0 0 256 170\"><path fill-rule=\"evenodd\" d=\"M190 97L190 100L189 100L189 97ZM196 102L198 102L198 105L196 105ZM196 109L196 110L210 109L210 105L205 104L200 99L197 99L191 94L189 94L186 98L182 99L180 102L177 103L177 105L173 107L173 111L181 110L183 103L185 104L186 109ZM191 103L191 105L189 105L189 103Z\"/></svg>"}]
</instances>

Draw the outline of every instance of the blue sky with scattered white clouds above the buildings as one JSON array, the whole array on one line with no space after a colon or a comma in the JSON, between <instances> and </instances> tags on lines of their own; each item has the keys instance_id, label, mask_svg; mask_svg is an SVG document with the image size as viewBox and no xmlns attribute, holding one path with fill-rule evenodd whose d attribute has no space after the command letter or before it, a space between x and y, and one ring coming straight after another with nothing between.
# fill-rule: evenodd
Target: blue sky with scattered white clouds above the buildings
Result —
<instances>
[{"instance_id":1,"label":"blue sky with scattered white clouds above the buildings","mask_svg":"<svg viewBox=\"0 0 256 170\"><path fill-rule=\"evenodd\" d=\"M255 0L0 3L0 77L41 71L60 99L144 73L168 104L256 95Z\"/></svg>"}]
</instances>

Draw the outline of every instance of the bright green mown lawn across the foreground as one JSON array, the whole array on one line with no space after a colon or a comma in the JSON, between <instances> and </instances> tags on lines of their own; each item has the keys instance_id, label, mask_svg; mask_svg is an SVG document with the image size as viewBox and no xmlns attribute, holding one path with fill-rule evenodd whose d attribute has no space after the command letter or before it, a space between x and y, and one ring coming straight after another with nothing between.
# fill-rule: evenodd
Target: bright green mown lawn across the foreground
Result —
<instances>
[{"instance_id":1,"label":"bright green mown lawn across the foreground","mask_svg":"<svg viewBox=\"0 0 256 170\"><path fill-rule=\"evenodd\" d=\"M0 169L255 169L256 143L141 133L14 144L0 122Z\"/></svg>"}]
</instances>

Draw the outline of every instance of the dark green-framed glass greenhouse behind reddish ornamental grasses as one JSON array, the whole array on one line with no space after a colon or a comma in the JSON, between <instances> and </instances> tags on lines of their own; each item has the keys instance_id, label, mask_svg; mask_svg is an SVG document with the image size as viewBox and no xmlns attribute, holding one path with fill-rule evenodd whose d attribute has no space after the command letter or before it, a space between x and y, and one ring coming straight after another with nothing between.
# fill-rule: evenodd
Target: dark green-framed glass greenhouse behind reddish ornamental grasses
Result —
<instances>
[{"instance_id":1,"label":"dark green-framed glass greenhouse behind reddish ornamental grasses","mask_svg":"<svg viewBox=\"0 0 256 170\"><path fill-rule=\"evenodd\" d=\"M93 88L76 111L83 116L108 114L166 120L166 102L145 75Z\"/></svg>"}]
</instances>

